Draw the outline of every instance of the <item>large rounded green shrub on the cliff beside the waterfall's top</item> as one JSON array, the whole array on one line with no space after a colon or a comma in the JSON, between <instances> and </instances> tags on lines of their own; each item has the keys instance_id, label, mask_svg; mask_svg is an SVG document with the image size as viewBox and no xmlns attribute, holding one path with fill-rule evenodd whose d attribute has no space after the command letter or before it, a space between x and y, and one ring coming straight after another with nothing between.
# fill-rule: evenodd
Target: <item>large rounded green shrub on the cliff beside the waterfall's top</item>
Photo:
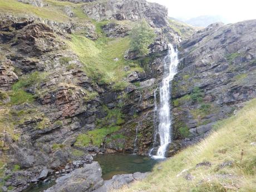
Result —
<instances>
[{"instance_id":1,"label":"large rounded green shrub on the cliff beside the waterfall's top","mask_svg":"<svg viewBox=\"0 0 256 192\"><path fill-rule=\"evenodd\" d=\"M153 29L142 20L136 27L131 30L131 49L138 52L139 56L149 54L149 45L154 42L155 33Z\"/></svg>"}]
</instances>

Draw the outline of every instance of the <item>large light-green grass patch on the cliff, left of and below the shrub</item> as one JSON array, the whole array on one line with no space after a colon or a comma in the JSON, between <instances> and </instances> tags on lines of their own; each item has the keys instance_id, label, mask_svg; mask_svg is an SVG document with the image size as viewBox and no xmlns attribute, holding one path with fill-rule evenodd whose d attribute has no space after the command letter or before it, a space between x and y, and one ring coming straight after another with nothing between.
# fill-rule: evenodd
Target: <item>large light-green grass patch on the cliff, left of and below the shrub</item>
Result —
<instances>
[{"instance_id":1,"label":"large light-green grass patch on the cliff, left of and below the shrub","mask_svg":"<svg viewBox=\"0 0 256 192\"><path fill-rule=\"evenodd\" d=\"M129 49L129 37L107 40L107 43L93 42L80 35L71 37L72 40L67 44L78 55L83 63L83 70L93 80L98 83L112 83L127 75L124 71L124 53ZM114 61L115 58L119 61Z\"/></svg>"}]
</instances>

